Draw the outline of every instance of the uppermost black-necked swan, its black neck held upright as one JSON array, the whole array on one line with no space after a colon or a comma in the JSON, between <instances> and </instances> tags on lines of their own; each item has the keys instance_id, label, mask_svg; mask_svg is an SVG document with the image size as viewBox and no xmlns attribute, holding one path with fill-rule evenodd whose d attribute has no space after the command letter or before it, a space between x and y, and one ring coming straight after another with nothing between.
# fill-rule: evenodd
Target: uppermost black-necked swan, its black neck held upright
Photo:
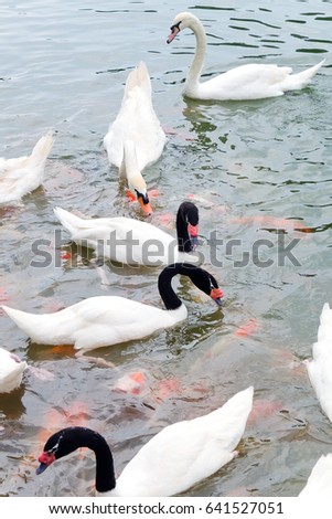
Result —
<instances>
[{"instance_id":1,"label":"uppermost black-necked swan, its black neck held upright","mask_svg":"<svg viewBox=\"0 0 332 519\"><path fill-rule=\"evenodd\" d=\"M197 240L199 210L193 202L182 202L178 209L178 241L151 223L131 218L82 219L61 208L54 213L72 240L104 258L149 266L197 262L196 255L189 254Z\"/></svg>"}]
</instances>

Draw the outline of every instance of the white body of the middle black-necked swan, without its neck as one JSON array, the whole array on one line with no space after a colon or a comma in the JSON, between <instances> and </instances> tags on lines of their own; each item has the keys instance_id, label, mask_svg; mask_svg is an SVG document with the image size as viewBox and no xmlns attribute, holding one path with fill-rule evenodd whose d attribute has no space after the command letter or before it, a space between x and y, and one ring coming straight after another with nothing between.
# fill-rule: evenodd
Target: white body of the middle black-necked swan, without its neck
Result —
<instances>
[{"instance_id":1,"label":"white body of the middle black-necked swan, without its neck","mask_svg":"<svg viewBox=\"0 0 332 519\"><path fill-rule=\"evenodd\" d=\"M163 310L118 296L89 297L54 314L2 308L33 342L74 345L82 352L142 339L188 316L184 305L176 310Z\"/></svg>"}]
</instances>

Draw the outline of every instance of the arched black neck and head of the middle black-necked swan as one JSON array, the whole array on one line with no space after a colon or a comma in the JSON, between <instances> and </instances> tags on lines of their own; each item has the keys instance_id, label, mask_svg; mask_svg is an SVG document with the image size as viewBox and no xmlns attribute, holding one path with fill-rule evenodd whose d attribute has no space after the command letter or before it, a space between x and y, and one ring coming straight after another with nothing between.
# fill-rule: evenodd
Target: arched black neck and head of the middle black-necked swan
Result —
<instances>
[{"instance_id":1,"label":"arched black neck and head of the middle black-necked swan","mask_svg":"<svg viewBox=\"0 0 332 519\"><path fill-rule=\"evenodd\" d=\"M180 308L182 301L172 288L172 278L178 274L188 276L192 283L210 296L212 288L218 288L216 279L204 268L196 267L190 263L173 263L167 266L158 278L158 289L160 297L168 310Z\"/></svg>"}]
</instances>

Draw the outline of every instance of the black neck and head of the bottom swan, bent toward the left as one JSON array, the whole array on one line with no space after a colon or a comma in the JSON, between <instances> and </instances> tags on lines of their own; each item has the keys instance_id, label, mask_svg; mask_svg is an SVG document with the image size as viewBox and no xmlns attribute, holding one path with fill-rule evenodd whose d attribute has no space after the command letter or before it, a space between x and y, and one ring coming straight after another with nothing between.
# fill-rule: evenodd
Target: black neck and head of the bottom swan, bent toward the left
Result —
<instances>
[{"instance_id":1,"label":"black neck and head of the bottom swan, bent toward the left","mask_svg":"<svg viewBox=\"0 0 332 519\"><path fill-rule=\"evenodd\" d=\"M115 488L114 460L105 438L86 427L66 427L51 436L44 452L53 451L58 459L79 447L88 447L96 455L96 490L106 492Z\"/></svg>"}]
</instances>

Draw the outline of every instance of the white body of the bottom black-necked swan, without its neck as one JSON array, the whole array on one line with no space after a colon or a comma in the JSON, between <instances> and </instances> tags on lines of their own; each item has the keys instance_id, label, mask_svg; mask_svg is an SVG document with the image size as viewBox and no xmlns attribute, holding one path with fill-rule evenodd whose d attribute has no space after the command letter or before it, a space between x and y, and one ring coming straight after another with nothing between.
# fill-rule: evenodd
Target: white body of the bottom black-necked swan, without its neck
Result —
<instances>
[{"instance_id":1,"label":"white body of the bottom black-necked swan, without its neck","mask_svg":"<svg viewBox=\"0 0 332 519\"><path fill-rule=\"evenodd\" d=\"M234 458L253 407L254 388L205 416L178 422L153 436L128 463L109 496L173 496Z\"/></svg>"}]
</instances>

